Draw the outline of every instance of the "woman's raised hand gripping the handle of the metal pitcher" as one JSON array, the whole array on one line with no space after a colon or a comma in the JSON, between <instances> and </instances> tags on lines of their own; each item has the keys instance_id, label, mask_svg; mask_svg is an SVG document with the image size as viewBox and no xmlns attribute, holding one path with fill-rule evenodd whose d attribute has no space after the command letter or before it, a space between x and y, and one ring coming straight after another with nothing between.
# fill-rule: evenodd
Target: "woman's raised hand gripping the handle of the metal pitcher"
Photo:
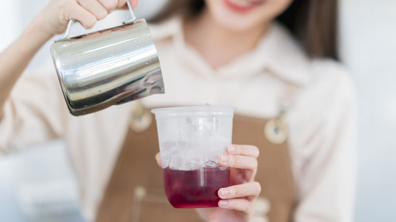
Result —
<instances>
[{"instance_id":1,"label":"woman's raised hand gripping the handle of the metal pitcher","mask_svg":"<svg viewBox=\"0 0 396 222\"><path fill-rule=\"evenodd\" d=\"M85 28L104 19L115 9L125 8L127 0L52 0L37 19L43 31L50 35L65 31L70 19L76 19ZM128 0L135 8L139 1Z\"/></svg>"}]
</instances>

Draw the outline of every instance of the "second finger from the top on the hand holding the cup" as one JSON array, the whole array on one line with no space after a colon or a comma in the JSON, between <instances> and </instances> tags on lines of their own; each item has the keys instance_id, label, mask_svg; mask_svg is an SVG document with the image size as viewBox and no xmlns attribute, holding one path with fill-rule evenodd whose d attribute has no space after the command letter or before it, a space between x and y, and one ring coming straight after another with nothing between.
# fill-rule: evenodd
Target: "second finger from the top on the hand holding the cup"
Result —
<instances>
[{"instance_id":1,"label":"second finger from the top on the hand holding the cup","mask_svg":"<svg viewBox=\"0 0 396 222\"><path fill-rule=\"evenodd\" d=\"M257 159L249 156L220 155L217 160L223 167L234 167L238 169L257 170Z\"/></svg>"}]
</instances>

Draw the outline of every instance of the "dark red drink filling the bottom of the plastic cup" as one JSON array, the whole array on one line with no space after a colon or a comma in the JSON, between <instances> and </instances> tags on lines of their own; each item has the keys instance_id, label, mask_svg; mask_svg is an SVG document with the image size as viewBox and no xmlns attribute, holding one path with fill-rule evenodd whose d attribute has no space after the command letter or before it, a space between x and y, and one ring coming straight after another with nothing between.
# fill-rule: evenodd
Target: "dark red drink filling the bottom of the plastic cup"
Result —
<instances>
[{"instance_id":1,"label":"dark red drink filling the bottom of the plastic cup","mask_svg":"<svg viewBox=\"0 0 396 222\"><path fill-rule=\"evenodd\" d=\"M229 168L202 167L198 170L162 169L165 193L175 208L217 207L217 192L229 186Z\"/></svg>"}]
</instances>

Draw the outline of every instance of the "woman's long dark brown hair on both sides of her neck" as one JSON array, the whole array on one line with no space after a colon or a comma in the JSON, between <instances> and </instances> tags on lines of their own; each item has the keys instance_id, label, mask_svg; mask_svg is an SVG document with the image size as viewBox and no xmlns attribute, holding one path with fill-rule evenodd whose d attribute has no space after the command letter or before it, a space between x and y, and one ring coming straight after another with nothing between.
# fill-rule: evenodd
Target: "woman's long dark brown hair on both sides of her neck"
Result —
<instances>
[{"instance_id":1,"label":"woman's long dark brown hair on both sides of her neck","mask_svg":"<svg viewBox=\"0 0 396 222\"><path fill-rule=\"evenodd\" d=\"M159 22L174 14L193 16L204 6L204 0L169 0L150 22ZM294 0L277 20L290 29L309 56L338 60L337 18L337 0Z\"/></svg>"}]
</instances>

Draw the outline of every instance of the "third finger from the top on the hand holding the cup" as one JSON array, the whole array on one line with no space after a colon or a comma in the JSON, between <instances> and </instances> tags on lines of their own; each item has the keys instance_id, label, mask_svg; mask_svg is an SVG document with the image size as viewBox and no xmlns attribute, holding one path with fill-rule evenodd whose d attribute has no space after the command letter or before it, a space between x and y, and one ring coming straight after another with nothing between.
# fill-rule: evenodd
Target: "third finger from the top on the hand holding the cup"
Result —
<instances>
[{"instance_id":1,"label":"third finger from the top on the hand holding the cup","mask_svg":"<svg viewBox=\"0 0 396 222\"><path fill-rule=\"evenodd\" d=\"M261 192L260 183L254 181L254 182L247 182L227 188L221 188L217 192L217 194L221 199L233 199L240 197L254 199L258 197L260 192Z\"/></svg>"}]
</instances>

